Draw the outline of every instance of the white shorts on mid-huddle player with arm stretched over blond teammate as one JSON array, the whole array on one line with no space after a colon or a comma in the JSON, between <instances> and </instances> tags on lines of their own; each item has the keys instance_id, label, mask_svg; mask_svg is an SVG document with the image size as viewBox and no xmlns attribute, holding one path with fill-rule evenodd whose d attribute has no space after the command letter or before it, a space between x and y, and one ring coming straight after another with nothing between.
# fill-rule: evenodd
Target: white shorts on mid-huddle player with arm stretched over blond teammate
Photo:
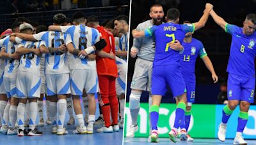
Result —
<instances>
[{"instance_id":1,"label":"white shorts on mid-huddle player with arm stretched over blond teammate","mask_svg":"<svg viewBox=\"0 0 256 145\"><path fill-rule=\"evenodd\" d=\"M46 74L47 95L63 95L70 93L69 73Z\"/></svg>"}]
</instances>

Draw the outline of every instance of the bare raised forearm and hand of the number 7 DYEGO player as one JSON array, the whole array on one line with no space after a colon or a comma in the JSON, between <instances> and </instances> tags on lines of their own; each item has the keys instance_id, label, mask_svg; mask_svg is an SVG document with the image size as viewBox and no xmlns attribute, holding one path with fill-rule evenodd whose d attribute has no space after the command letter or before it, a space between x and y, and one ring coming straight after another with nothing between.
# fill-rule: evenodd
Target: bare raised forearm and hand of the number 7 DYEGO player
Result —
<instances>
[{"instance_id":1,"label":"bare raised forearm and hand of the number 7 DYEGO player","mask_svg":"<svg viewBox=\"0 0 256 145\"><path fill-rule=\"evenodd\" d=\"M204 10L204 15L202 15L202 17L200 18L200 20L196 23L193 23L193 25L195 26L195 31L198 29L201 29L202 27L204 27L204 25L206 24L210 11L212 10L213 6L210 3L205 4L205 10Z\"/></svg>"}]
</instances>

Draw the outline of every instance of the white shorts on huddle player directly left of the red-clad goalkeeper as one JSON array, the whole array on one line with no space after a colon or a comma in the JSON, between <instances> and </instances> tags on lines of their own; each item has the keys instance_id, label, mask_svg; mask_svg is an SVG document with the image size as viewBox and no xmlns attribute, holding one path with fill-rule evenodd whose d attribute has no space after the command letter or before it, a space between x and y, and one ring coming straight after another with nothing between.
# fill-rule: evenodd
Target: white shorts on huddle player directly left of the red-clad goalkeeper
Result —
<instances>
[{"instance_id":1,"label":"white shorts on huddle player directly left of the red-clad goalkeeper","mask_svg":"<svg viewBox=\"0 0 256 145\"><path fill-rule=\"evenodd\" d=\"M71 78L71 94L82 95L83 89L86 93L99 92L99 81L96 70L93 69L72 69Z\"/></svg>"}]
</instances>

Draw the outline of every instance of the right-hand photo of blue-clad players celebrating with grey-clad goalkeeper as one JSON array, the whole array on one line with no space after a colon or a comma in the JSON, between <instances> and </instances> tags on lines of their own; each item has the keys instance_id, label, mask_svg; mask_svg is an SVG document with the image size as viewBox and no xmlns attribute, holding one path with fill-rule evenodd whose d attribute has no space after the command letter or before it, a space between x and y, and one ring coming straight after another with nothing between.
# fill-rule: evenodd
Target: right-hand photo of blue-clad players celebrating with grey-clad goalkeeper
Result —
<instances>
[{"instance_id":1,"label":"right-hand photo of blue-clad players celebrating with grey-clad goalkeeper","mask_svg":"<svg viewBox=\"0 0 256 145\"><path fill-rule=\"evenodd\" d=\"M131 1L124 144L256 144L256 1Z\"/></svg>"}]
</instances>

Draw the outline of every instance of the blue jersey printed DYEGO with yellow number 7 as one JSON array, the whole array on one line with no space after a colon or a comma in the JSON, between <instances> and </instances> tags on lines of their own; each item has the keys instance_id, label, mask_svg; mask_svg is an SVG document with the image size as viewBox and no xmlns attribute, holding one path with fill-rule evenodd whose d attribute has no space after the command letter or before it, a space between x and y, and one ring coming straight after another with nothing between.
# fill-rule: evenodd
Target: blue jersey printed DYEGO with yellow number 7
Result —
<instances>
[{"instance_id":1,"label":"blue jersey printed DYEGO with yellow number 7","mask_svg":"<svg viewBox=\"0 0 256 145\"><path fill-rule=\"evenodd\" d=\"M187 32L193 32L195 25L193 24L174 24L168 22L166 24L154 25L145 30L145 36L154 35L156 38L156 53L153 66L179 65L179 51L172 50L168 43L175 40L183 41Z\"/></svg>"}]
</instances>

